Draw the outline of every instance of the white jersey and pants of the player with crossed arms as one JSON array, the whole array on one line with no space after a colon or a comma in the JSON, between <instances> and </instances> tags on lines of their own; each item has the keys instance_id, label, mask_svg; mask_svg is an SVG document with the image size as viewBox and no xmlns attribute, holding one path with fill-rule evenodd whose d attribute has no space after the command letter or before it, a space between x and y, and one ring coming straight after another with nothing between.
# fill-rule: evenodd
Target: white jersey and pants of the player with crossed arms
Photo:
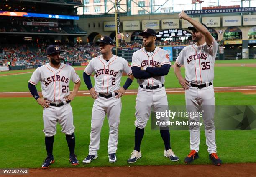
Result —
<instances>
[{"instance_id":1,"label":"white jersey and pants of the player with crossed arms","mask_svg":"<svg viewBox=\"0 0 256 177\"><path fill-rule=\"evenodd\" d=\"M149 57L150 56L150 57ZM164 64L171 65L169 60L169 54L166 50L156 47L154 53L148 56L145 47L133 53L132 65L136 67L159 67ZM165 111L161 109L161 106L168 106L167 95L164 84L164 76L154 76L148 79L137 79L139 85L143 85L143 88L138 88L138 94L136 97L136 120L134 125L138 128L146 127L151 113L151 106L153 111ZM159 88L150 90L146 89L146 86L156 86ZM169 117L161 117L161 121L169 121Z\"/></svg>"}]
</instances>

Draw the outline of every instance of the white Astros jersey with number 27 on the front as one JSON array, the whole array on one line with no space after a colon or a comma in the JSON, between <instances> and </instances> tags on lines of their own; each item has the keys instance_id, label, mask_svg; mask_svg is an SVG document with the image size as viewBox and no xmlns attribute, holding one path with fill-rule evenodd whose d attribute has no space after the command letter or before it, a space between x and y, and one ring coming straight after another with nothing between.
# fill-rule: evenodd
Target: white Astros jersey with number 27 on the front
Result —
<instances>
[{"instance_id":1,"label":"white Astros jersey with number 27 on the front","mask_svg":"<svg viewBox=\"0 0 256 177\"><path fill-rule=\"evenodd\" d=\"M73 67L61 63L57 70L47 63L38 67L28 82L36 85L40 81L43 97L50 102L61 102L69 95L70 80L74 83L80 80Z\"/></svg>"}]
</instances>

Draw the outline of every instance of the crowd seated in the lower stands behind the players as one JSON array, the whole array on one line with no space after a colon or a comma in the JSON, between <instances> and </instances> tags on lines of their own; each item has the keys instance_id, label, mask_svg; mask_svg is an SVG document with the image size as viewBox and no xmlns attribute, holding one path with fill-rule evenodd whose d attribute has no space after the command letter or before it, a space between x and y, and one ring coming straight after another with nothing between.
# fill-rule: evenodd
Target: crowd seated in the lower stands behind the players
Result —
<instances>
[{"instance_id":1,"label":"crowd seated in the lower stands behind the players","mask_svg":"<svg viewBox=\"0 0 256 177\"><path fill-rule=\"evenodd\" d=\"M190 45L190 40L185 41L157 41L157 46L164 45ZM10 61L12 66L19 65L44 65L48 62L46 57L46 44L33 44L33 45L5 45L0 46L0 66L7 66ZM115 44L114 44L115 46ZM142 47L141 42L124 42L120 47ZM81 63L89 62L92 58L100 55L99 47L94 44L76 44L73 47L69 45L60 45L64 53L61 57L65 62Z\"/></svg>"}]
</instances>

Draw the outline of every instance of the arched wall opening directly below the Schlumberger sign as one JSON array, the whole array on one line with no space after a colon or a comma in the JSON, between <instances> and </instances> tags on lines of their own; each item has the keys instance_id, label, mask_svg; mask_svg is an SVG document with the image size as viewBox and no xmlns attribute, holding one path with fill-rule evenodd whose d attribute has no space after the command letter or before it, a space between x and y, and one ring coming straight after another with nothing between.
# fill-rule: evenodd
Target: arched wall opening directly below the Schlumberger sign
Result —
<instances>
[{"instance_id":1,"label":"arched wall opening directly below the Schlumberger sign","mask_svg":"<svg viewBox=\"0 0 256 177\"><path fill-rule=\"evenodd\" d=\"M242 31L238 27L228 27L224 32L225 60L242 59Z\"/></svg>"}]
</instances>

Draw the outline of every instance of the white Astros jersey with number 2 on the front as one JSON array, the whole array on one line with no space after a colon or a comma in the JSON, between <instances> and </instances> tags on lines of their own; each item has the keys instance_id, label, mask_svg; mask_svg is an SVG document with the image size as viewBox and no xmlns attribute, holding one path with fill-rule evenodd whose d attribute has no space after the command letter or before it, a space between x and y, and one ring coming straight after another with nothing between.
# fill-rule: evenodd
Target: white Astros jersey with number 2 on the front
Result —
<instances>
[{"instance_id":1,"label":"white Astros jersey with number 2 on the front","mask_svg":"<svg viewBox=\"0 0 256 177\"><path fill-rule=\"evenodd\" d=\"M93 58L84 69L87 75L94 74L95 91L100 93L111 93L120 88L122 73L131 75L129 63L121 57L113 55L107 62L103 56Z\"/></svg>"}]
</instances>

